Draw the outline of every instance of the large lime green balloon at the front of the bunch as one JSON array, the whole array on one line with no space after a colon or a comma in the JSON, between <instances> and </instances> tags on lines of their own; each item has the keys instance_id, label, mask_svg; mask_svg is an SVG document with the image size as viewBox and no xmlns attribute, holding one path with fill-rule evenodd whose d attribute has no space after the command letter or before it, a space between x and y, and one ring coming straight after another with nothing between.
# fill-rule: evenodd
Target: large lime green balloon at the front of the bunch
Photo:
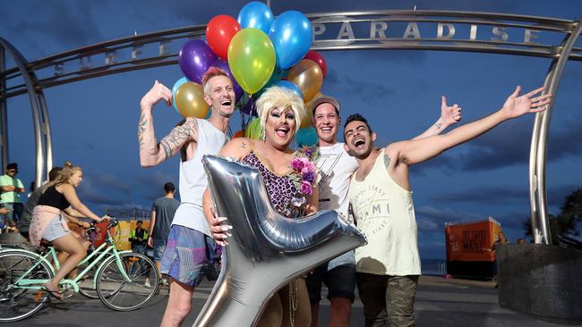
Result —
<instances>
[{"instance_id":1,"label":"large lime green balloon at the front of the bunch","mask_svg":"<svg viewBox=\"0 0 582 327\"><path fill-rule=\"evenodd\" d=\"M228 46L228 66L241 88L255 94L275 69L275 47L261 29L242 29Z\"/></svg>"}]
</instances>

